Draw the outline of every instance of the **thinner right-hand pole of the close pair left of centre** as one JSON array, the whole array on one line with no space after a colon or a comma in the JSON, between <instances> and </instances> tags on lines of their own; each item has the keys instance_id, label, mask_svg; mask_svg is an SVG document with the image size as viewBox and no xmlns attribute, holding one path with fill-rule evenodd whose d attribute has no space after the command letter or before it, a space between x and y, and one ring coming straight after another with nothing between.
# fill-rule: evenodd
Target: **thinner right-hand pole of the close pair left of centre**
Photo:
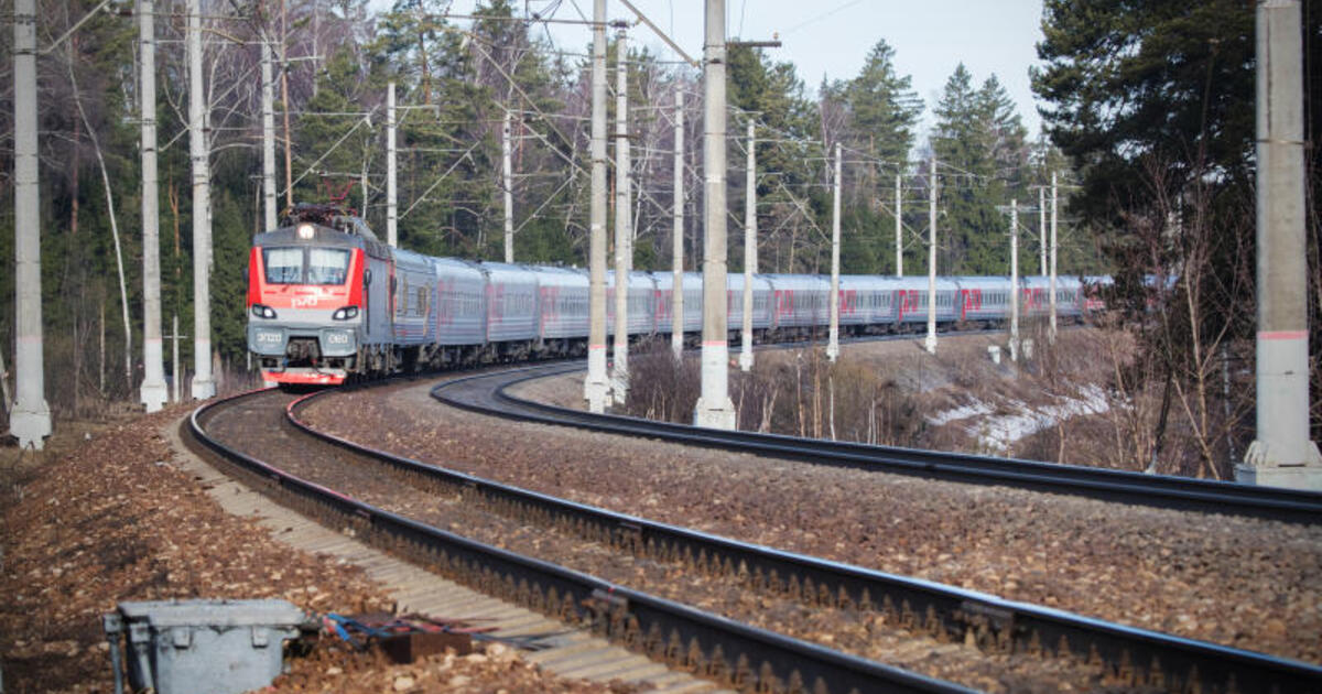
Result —
<instances>
[{"instance_id":1,"label":"thinner right-hand pole of the close pair left of centre","mask_svg":"<svg viewBox=\"0 0 1322 694\"><path fill-rule=\"evenodd\" d=\"M629 395L629 268L633 233L629 222L629 69L628 34L615 34L615 349L611 398L624 405Z\"/></svg>"}]
</instances>

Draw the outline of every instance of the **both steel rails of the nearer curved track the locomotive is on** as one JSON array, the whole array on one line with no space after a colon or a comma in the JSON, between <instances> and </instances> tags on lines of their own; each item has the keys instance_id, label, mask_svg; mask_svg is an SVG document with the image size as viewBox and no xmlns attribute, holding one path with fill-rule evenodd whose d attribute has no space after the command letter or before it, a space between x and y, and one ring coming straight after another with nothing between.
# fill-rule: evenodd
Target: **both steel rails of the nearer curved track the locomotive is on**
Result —
<instances>
[{"instance_id":1,"label":"both steel rails of the nearer curved track the locomotive is on","mask_svg":"<svg viewBox=\"0 0 1322 694\"><path fill-rule=\"evenodd\" d=\"M520 378L530 375L529 371L537 373L546 367L524 370ZM501 402L500 394L483 386L486 378L486 375L464 378L455 387L476 389L475 393L485 390L488 406ZM483 398L475 395L469 399ZM235 405L239 402L242 398L237 399ZM290 422L293 427L316 435L307 431L307 427L297 420L296 407L297 403L290 406ZM194 431L213 449L227 448L206 436L201 423L205 419L206 415L201 410L194 414ZM1155 686L1163 690L1322 689L1322 669L1310 665L1011 603L973 591L767 550L653 523L633 516L564 502L389 456L379 451L364 449L332 436L317 436L325 442L315 444L319 448L329 443L340 449L332 453L336 457L370 456L410 476L432 480L443 486L460 488L465 496L480 497L486 500L488 505L509 509L518 518L537 518L543 523L578 527L584 535L627 549L640 559L662 560L682 557L683 563L698 571L724 576L750 590L789 595L805 605L874 611L883 615L884 621L894 620L907 625L908 629L925 632L943 641L976 642L984 650L993 653L1073 656L1100 665L1113 682ZM229 456L233 456L233 452ZM691 608L549 566L545 562L512 557L508 551L422 526L416 521L354 501L340 492L297 480L242 453L231 460L263 480L274 482L272 486L282 494L297 500L297 504L308 510L336 517L340 523L349 518L361 535L378 538L397 551L432 566L439 564L451 572L481 576L488 591L524 603L531 601L534 607L567 616L571 621L594 624L603 633L624 642L632 641L635 648L654 657L697 668L739 689L761 690L758 687L792 681L821 682L825 691L957 689L871 661L702 615ZM720 633L720 629L728 627L735 628L732 635ZM661 636L665 633L670 633L670 637ZM677 633L683 636L677 637ZM687 648L683 648L685 644ZM763 665L760 668L752 665L758 662ZM773 685L771 690L781 687Z\"/></svg>"}]
</instances>

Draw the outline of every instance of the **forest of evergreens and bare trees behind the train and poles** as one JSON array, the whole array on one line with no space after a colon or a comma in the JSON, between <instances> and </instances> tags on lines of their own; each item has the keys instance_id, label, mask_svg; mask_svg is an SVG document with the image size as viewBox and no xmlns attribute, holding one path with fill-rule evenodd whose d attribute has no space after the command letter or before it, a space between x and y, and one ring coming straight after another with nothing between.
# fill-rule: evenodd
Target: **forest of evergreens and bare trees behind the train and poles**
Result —
<instances>
[{"instance_id":1,"label":"forest of evergreens and bare trees behind the train and poles","mask_svg":"<svg viewBox=\"0 0 1322 694\"><path fill-rule=\"evenodd\" d=\"M38 45L50 45L95 4L38 0ZM1318 34L1313 5L1305 3L1307 36ZM446 19L446 8L443 0L398 0L382 13L369 11L365 0L286 0L283 8L271 0L202 3L213 185L210 312L222 371L243 371L246 360L243 271L251 237L262 230L263 37L287 58L288 99L276 93L276 119L286 112L290 118L295 201L344 194L383 231L386 85L395 82L399 103L410 107L402 111L398 136L402 247L501 258L501 124L510 112L514 256L586 264L587 28L582 46L564 48L541 38L537 22L508 0L483 3L472 21ZM141 377L134 11L131 0L112 0L38 57L46 382L57 416L136 401ZM177 315L188 333L194 210L184 25L182 0L157 0L164 323L168 330ZM1032 69L1032 81L1044 103L1044 131L1035 136L1026 132L995 75L976 83L964 65L935 103L923 103L911 79L896 73L894 50L880 36L857 75L812 87L775 52L732 48L726 172L731 267L743 263L743 135L752 119L763 271L829 270L829 152L838 141L845 147L843 272L895 271L896 180L904 266L908 274L925 266L935 156L937 271L1007 275L1007 206L1015 200L1022 210L1019 267L1034 274L1039 192L1055 173L1063 184L1062 272L1114 275L1116 305L1132 315L1150 305L1142 278L1169 276L1173 280L1162 283L1169 299L1192 307L1163 316L1169 320L1150 337L1155 369L1192 382L1212 367L1210 345L1251 341L1253 4L1048 0L1042 28L1042 63ZM12 40L11 32L0 33L7 54ZM1307 63L1317 65L1311 58L1318 42L1307 46ZM646 49L631 48L627 63L635 267L670 267L674 99L683 93L685 264L693 270L702 247L701 74ZM608 65L613 90L613 32ZM12 365L12 62L4 61L0 73L0 258L7 268L0 272L0 349ZM1322 93L1314 83L1310 73L1310 115ZM924 110L935 126L917 132ZM279 126L278 137L283 145ZM1309 156L1314 180L1317 149ZM283 161L278 181L283 201ZM1309 238L1313 344L1322 344L1315 215ZM190 338L180 342L184 364L192 361L192 346ZM1313 378L1315 389L1318 382ZM1317 391L1313 402L1322 402Z\"/></svg>"}]
</instances>

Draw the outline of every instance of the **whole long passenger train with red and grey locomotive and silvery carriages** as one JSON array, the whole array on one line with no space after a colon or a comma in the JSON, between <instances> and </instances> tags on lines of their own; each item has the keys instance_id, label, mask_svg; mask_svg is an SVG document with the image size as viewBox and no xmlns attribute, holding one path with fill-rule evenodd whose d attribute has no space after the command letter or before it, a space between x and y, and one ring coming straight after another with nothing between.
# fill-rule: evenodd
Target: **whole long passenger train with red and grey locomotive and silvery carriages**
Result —
<instances>
[{"instance_id":1,"label":"whole long passenger train with red and grey locomotive and silvery carriages","mask_svg":"<svg viewBox=\"0 0 1322 694\"><path fill-rule=\"evenodd\" d=\"M682 275L683 332L702 329L702 275ZM1105 278L1095 278L1104 282ZM730 274L730 337L743 325L742 274ZM1089 280L1060 276L1056 312L1076 320L1100 307ZM381 242L333 205L300 204L280 227L256 234L247 268L247 348L267 382L333 386L348 379L453 365L586 354L588 272L578 267L434 258ZM1050 280L941 276L928 305L925 276L841 275L839 333L880 334L925 325L995 325L1011 291L1025 319L1050 311ZM615 330L615 274L607 330ZM628 275L632 338L672 330L672 272ZM829 323L830 278L755 274L756 341L812 338Z\"/></svg>"}]
</instances>

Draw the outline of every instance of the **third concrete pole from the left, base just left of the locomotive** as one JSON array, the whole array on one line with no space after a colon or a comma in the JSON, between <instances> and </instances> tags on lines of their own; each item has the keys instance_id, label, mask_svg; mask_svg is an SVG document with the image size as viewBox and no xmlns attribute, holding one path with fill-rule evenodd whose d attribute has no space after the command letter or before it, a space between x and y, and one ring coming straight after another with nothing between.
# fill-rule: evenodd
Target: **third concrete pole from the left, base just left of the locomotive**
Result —
<instances>
[{"instance_id":1,"label":"third concrete pole from the left, base just left of the locomotive","mask_svg":"<svg viewBox=\"0 0 1322 694\"><path fill-rule=\"evenodd\" d=\"M193 399L215 395L212 375L212 171L204 130L201 1L188 0L188 153L193 160ZM288 106L286 106L288 111Z\"/></svg>"}]
</instances>

